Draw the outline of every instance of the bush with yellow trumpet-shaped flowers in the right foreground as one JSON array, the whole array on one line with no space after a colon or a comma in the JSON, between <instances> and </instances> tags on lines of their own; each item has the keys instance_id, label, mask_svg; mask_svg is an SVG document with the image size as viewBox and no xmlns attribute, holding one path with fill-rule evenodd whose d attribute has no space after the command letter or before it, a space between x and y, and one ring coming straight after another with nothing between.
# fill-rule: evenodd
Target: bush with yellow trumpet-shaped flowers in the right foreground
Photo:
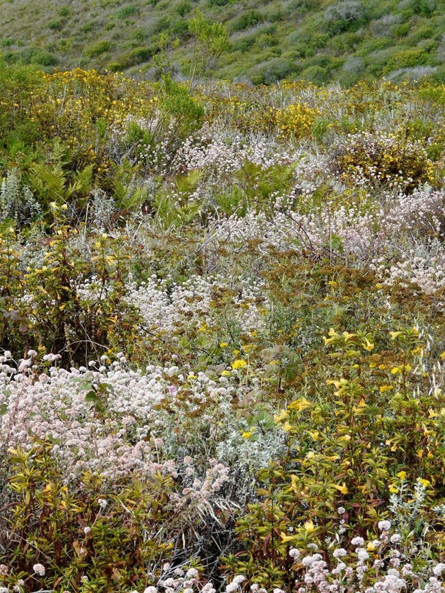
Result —
<instances>
[{"instance_id":1,"label":"bush with yellow trumpet-shaped flowers in the right foreground","mask_svg":"<svg viewBox=\"0 0 445 593\"><path fill-rule=\"evenodd\" d=\"M382 349L366 333L331 329L325 337L331 378L310 397L303 390L275 416L288 455L261 472L261 502L238 520L246 552L235 570L264 579L256 567L275 559L273 586L285 578L289 546L323 548L335 533L338 509L344 529L366 535L385 517L400 483L420 484L427 505L444 499L445 396L422 373L416 352L426 346L418 330L388 338ZM380 389L388 383L392 390ZM430 541L440 546L440 533L431 531Z\"/></svg>"}]
</instances>

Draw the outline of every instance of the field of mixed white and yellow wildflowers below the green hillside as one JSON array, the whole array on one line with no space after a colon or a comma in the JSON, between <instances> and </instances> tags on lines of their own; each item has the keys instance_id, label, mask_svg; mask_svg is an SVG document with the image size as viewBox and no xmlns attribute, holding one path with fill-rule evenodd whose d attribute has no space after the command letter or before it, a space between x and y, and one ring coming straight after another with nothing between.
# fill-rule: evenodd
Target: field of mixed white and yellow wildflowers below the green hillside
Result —
<instances>
[{"instance_id":1,"label":"field of mixed white and yellow wildflowers below the green hillside","mask_svg":"<svg viewBox=\"0 0 445 593\"><path fill-rule=\"evenodd\" d=\"M4 590L440 592L444 86L0 79Z\"/></svg>"}]
</instances>

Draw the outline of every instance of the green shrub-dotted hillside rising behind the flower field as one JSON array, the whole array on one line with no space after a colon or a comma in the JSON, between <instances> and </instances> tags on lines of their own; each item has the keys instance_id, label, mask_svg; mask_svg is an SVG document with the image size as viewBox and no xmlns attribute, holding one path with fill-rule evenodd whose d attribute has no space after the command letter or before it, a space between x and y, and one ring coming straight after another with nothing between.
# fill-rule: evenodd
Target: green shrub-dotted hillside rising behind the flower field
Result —
<instances>
[{"instance_id":1,"label":"green shrub-dotted hillside rising behind the flower field","mask_svg":"<svg viewBox=\"0 0 445 593\"><path fill-rule=\"evenodd\" d=\"M0 0L0 40L8 62L150 77L168 34L179 38L175 60L186 76L196 8L229 30L221 79L351 85L445 75L444 0Z\"/></svg>"}]
</instances>

